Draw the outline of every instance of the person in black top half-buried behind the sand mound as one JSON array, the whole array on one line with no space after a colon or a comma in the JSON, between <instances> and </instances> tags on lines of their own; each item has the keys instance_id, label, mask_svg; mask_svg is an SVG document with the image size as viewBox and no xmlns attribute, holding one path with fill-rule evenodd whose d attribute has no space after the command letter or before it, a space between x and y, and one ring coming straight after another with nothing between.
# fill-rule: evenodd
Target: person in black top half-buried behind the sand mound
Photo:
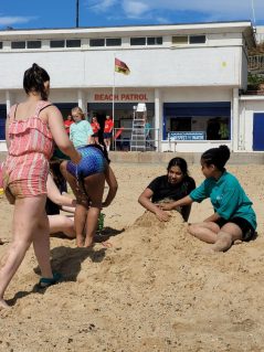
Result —
<instances>
[{"instance_id":1,"label":"person in black top half-buried behind the sand mound","mask_svg":"<svg viewBox=\"0 0 264 352\"><path fill-rule=\"evenodd\" d=\"M196 189L196 182L188 175L187 162L182 158L170 160L168 173L156 178L140 194L138 202L148 211L156 214L159 221L168 221L168 214L162 211L158 203L162 201L172 202L188 195ZM188 221L191 206L178 209L184 221Z\"/></svg>"}]
</instances>

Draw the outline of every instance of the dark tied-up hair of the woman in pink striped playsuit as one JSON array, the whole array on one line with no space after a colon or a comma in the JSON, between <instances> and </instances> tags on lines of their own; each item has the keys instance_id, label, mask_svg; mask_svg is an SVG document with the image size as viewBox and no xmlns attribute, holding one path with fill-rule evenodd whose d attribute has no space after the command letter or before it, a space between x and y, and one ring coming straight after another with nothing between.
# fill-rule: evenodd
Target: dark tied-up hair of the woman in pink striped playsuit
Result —
<instances>
[{"instance_id":1,"label":"dark tied-up hair of the woman in pink striped playsuit","mask_svg":"<svg viewBox=\"0 0 264 352\"><path fill-rule=\"evenodd\" d=\"M29 70L24 72L23 87L24 92L36 92L41 94L43 100L47 100L47 94L45 92L44 83L50 81L47 72L40 67L38 64L33 64Z\"/></svg>"}]
</instances>

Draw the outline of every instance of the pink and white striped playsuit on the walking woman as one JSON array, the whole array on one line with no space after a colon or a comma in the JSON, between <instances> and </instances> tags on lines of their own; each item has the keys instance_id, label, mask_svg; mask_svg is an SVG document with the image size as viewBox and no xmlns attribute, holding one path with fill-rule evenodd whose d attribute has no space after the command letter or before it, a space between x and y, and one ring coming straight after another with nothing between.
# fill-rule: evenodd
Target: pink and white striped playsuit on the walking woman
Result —
<instances>
[{"instance_id":1,"label":"pink and white striped playsuit on the walking woman","mask_svg":"<svg viewBox=\"0 0 264 352\"><path fill-rule=\"evenodd\" d=\"M49 160L53 153L53 138L49 126L39 117L51 105L40 100L35 114L25 120L15 119L18 105L10 109L8 158L3 167L3 186L15 198L46 194Z\"/></svg>"}]
</instances>

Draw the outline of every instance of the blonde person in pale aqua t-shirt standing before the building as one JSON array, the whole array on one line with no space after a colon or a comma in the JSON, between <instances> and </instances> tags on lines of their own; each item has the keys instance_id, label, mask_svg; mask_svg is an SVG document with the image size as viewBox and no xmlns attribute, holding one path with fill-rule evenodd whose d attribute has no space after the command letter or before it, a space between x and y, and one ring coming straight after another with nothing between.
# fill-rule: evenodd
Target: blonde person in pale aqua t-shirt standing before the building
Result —
<instances>
[{"instance_id":1,"label":"blonde person in pale aqua t-shirt standing before the building","mask_svg":"<svg viewBox=\"0 0 264 352\"><path fill-rule=\"evenodd\" d=\"M81 107L76 106L72 109L72 117L74 124L70 127L70 139L75 148L84 147L91 143L91 136L94 134L93 128L88 121L85 120L85 116Z\"/></svg>"}]
</instances>

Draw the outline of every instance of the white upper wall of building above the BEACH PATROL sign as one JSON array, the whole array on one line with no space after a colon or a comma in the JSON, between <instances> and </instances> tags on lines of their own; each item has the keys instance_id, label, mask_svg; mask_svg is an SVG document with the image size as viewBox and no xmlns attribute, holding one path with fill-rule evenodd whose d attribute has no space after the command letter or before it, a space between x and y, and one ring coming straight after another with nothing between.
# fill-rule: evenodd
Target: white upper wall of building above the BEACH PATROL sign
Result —
<instances>
[{"instance_id":1,"label":"white upper wall of building above the BEACH PATROL sign","mask_svg":"<svg viewBox=\"0 0 264 352\"><path fill-rule=\"evenodd\" d=\"M240 47L148 49L116 52L131 73L118 74L116 86L239 86ZM51 76L54 88L112 87L113 51L25 52L0 55L0 89L21 88L33 62Z\"/></svg>"}]
</instances>

